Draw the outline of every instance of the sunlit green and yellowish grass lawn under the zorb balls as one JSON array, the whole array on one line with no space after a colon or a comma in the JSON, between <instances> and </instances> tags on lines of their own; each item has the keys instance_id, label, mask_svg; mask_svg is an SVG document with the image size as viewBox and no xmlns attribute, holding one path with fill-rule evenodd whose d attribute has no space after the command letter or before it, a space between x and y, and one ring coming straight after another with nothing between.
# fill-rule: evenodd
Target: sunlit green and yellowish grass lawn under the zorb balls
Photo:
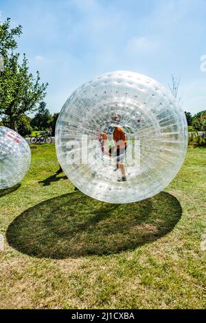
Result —
<instances>
[{"instance_id":1,"label":"sunlit green and yellowish grass lawn under the zorb balls","mask_svg":"<svg viewBox=\"0 0 206 323\"><path fill-rule=\"evenodd\" d=\"M0 191L1 309L206 308L206 149L156 197L128 205L75 192L54 144Z\"/></svg>"}]
</instances>

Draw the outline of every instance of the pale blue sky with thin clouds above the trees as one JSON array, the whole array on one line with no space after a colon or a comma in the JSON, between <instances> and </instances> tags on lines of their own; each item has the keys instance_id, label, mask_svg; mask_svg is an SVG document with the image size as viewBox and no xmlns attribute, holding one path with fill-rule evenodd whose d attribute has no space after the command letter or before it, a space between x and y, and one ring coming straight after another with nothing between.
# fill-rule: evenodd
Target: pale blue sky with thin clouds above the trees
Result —
<instances>
[{"instance_id":1,"label":"pale blue sky with thin clouds above the trees","mask_svg":"<svg viewBox=\"0 0 206 323\"><path fill-rule=\"evenodd\" d=\"M84 81L116 69L166 87L181 76L183 109L206 109L205 0L0 0L0 11L23 26L19 51L49 82L52 113Z\"/></svg>"}]
</instances>

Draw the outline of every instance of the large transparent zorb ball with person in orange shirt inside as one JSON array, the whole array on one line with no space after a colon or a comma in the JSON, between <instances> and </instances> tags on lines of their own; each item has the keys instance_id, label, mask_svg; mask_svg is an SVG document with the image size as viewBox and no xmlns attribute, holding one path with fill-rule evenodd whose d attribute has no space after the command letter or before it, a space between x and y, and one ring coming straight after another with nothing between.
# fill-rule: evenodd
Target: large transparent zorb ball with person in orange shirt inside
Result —
<instances>
[{"instance_id":1,"label":"large transparent zorb ball with person in orange shirt inside","mask_svg":"<svg viewBox=\"0 0 206 323\"><path fill-rule=\"evenodd\" d=\"M116 137L122 138L120 146ZM84 83L56 124L58 160L69 180L110 203L161 192L179 172L187 142L185 113L168 89L130 71Z\"/></svg>"}]
</instances>

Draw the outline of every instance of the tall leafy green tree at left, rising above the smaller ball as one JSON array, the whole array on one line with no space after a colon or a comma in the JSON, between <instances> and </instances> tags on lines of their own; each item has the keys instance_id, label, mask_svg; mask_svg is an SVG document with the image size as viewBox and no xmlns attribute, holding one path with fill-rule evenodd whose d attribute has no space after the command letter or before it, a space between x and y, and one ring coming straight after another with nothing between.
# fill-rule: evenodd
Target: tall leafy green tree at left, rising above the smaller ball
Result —
<instances>
[{"instance_id":1,"label":"tall leafy green tree at left, rising above the smaller ball","mask_svg":"<svg viewBox=\"0 0 206 323\"><path fill-rule=\"evenodd\" d=\"M47 83L40 84L40 76L36 78L29 72L27 58L14 52L17 48L16 36L22 34L21 25L10 29L8 18L0 25L0 56L3 58L3 69L0 71L0 117L7 118L10 128L17 126L21 117L27 112L36 110L36 104L46 95Z\"/></svg>"}]
</instances>

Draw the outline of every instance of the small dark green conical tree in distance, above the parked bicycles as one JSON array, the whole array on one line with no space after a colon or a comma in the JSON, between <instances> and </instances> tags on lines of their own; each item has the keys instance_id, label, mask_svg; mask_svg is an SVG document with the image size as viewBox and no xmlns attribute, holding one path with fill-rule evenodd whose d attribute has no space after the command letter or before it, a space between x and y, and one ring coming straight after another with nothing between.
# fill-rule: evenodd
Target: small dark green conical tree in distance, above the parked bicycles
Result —
<instances>
[{"instance_id":1,"label":"small dark green conical tree in distance, above the parked bicycles","mask_svg":"<svg viewBox=\"0 0 206 323\"><path fill-rule=\"evenodd\" d=\"M31 126L38 130L48 129L52 125L52 115L49 113L49 109L46 109L46 103L41 102L38 107L38 112L34 115L31 121Z\"/></svg>"}]
</instances>

